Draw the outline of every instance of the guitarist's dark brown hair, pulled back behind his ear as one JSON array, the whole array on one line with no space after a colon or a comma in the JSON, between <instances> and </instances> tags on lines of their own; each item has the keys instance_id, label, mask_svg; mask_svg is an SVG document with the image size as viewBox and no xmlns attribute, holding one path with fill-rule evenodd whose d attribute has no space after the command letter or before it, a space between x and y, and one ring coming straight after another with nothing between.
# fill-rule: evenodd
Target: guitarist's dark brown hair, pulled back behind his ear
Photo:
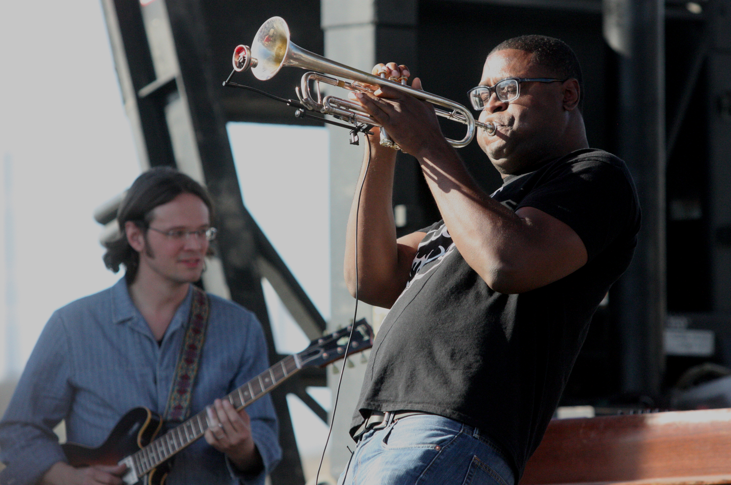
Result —
<instances>
[{"instance_id":1,"label":"guitarist's dark brown hair, pulled back behind his ear","mask_svg":"<svg viewBox=\"0 0 731 485\"><path fill-rule=\"evenodd\" d=\"M121 235L112 242L105 242L107 252L103 259L106 267L113 272L118 272L120 265L124 264L127 284L135 281L140 254L129 245L124 226L131 221L143 232L147 231L155 207L167 204L180 194L193 194L201 199L213 220L213 203L208 191L188 175L170 167L155 167L143 173L124 196L117 211Z\"/></svg>"}]
</instances>

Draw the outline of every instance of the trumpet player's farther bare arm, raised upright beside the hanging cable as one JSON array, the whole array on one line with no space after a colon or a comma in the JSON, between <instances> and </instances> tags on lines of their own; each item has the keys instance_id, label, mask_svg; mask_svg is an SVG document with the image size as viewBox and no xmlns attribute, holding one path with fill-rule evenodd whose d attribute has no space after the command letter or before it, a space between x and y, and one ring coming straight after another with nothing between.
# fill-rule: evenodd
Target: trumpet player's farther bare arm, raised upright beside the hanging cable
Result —
<instances>
[{"instance_id":1,"label":"trumpet player's farther bare arm, raised upright beside the hanging cable","mask_svg":"<svg viewBox=\"0 0 731 485\"><path fill-rule=\"evenodd\" d=\"M363 168L350 207L344 275L350 294L355 297L357 245L358 299L371 305L391 308L406 286L414 255L424 234L414 232L396 239L392 201L396 153L395 150L381 147L378 129L373 131L375 134L368 137ZM369 154L371 161L366 173ZM361 184L363 191L360 191L358 205Z\"/></svg>"}]
</instances>

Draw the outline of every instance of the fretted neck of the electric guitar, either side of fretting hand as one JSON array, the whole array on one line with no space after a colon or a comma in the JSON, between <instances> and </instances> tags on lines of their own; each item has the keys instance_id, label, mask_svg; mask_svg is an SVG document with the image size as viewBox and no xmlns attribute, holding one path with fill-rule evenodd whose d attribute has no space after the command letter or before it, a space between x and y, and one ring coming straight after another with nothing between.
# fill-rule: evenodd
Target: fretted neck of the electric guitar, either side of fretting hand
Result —
<instances>
[{"instance_id":1,"label":"fretted neck of the electric guitar, either side of fretting hand","mask_svg":"<svg viewBox=\"0 0 731 485\"><path fill-rule=\"evenodd\" d=\"M228 394L224 399L229 400L236 410L246 408L251 402L270 392L301 368L297 355L287 356ZM134 465L137 476L143 476L200 438L206 429L208 429L208 416L204 409L183 424L156 438L140 451L130 455L128 459Z\"/></svg>"}]
</instances>

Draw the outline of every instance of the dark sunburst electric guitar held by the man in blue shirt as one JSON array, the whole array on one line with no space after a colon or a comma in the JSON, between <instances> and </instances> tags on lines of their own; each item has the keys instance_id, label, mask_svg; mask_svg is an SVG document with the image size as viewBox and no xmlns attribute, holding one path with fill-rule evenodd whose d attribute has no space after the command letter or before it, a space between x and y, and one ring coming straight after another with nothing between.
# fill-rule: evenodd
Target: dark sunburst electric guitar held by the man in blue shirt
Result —
<instances>
[{"instance_id":1,"label":"dark sunburst electric guitar held by the man in blue shirt","mask_svg":"<svg viewBox=\"0 0 731 485\"><path fill-rule=\"evenodd\" d=\"M356 322L350 346L346 348L350 331L348 326L312 340L308 348L282 359L224 399L237 410L246 408L299 370L322 367L373 346L373 332L365 320ZM162 485L170 458L203 435L208 429L208 419L202 410L158 437L162 425L162 418L156 413L147 408L135 408L117 422L102 446L88 448L66 443L61 447L69 465L74 467L124 463L127 465L122 477L125 484Z\"/></svg>"}]
</instances>

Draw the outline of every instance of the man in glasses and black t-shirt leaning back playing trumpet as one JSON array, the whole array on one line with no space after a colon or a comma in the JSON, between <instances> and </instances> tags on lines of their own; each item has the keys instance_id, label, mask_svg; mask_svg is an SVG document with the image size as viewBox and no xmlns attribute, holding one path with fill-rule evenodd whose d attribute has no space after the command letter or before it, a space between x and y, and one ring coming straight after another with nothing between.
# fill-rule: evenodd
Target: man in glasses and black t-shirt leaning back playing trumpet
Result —
<instances>
[{"instance_id":1,"label":"man in glasses and black t-shirt leaning back playing trumpet","mask_svg":"<svg viewBox=\"0 0 731 485\"><path fill-rule=\"evenodd\" d=\"M409 75L405 66L376 67ZM421 88L418 78L412 87ZM395 150L369 137L345 279L351 294L390 312L340 484L520 479L640 226L624 162L588 148L582 94L564 42L524 36L493 49L469 91L480 121L496 126L477 133L503 178L492 195L445 141L432 104L388 86L352 95L416 157L442 221L396 238Z\"/></svg>"}]
</instances>

